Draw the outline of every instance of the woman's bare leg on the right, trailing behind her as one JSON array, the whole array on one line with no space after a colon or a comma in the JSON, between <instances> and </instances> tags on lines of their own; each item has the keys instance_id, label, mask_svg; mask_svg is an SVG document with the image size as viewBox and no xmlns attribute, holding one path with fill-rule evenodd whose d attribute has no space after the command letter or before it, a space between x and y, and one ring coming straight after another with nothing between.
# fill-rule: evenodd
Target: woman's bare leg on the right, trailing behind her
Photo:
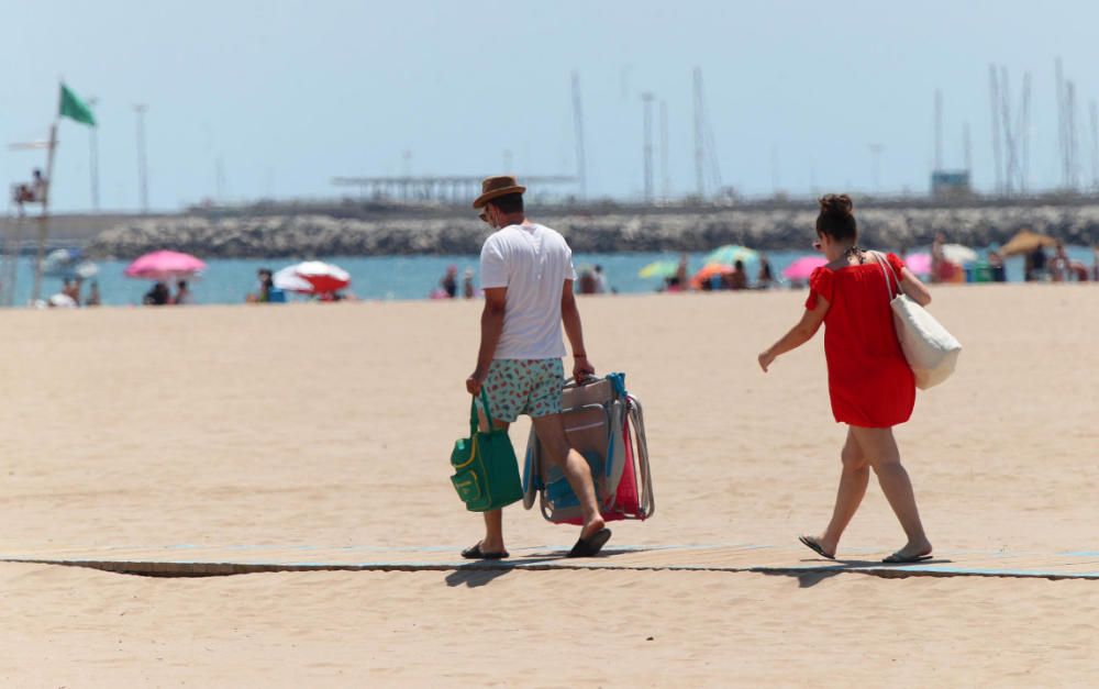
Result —
<instances>
[{"instance_id":1,"label":"woman's bare leg on the right, trailing behind her","mask_svg":"<svg viewBox=\"0 0 1099 689\"><path fill-rule=\"evenodd\" d=\"M863 429L852 426L852 432L866 460L878 475L881 492L900 521L908 536L908 543L897 552L900 556L918 556L931 553L931 541L923 531L920 510L915 507L915 492L908 471L900 463L900 451L893 438L892 429Z\"/></svg>"}]
</instances>

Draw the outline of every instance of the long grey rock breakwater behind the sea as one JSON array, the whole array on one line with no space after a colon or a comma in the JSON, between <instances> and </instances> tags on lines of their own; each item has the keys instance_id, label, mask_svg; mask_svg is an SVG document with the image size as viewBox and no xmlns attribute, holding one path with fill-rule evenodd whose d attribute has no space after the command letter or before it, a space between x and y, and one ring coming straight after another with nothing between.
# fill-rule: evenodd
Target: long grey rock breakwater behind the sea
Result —
<instances>
[{"instance_id":1,"label":"long grey rock breakwater behind the sea","mask_svg":"<svg viewBox=\"0 0 1099 689\"><path fill-rule=\"evenodd\" d=\"M532 215L564 234L574 251L703 252L722 244L762 249L809 249L815 212L700 210L654 213ZM882 248L930 244L936 232L970 246L1002 243L1023 227L1070 244L1099 243L1099 204L978 208L862 209L862 243ZM477 254L489 229L454 218L336 218L323 214L162 216L134 220L100 233L87 247L98 257L132 258L170 247L209 258L281 258L407 254Z\"/></svg>"}]
</instances>

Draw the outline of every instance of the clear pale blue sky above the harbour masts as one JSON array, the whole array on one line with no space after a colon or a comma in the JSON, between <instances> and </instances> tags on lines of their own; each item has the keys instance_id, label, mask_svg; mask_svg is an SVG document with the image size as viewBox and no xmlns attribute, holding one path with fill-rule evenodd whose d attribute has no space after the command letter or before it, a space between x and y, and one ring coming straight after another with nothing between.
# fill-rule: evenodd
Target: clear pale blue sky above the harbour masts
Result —
<instances>
[{"instance_id":1,"label":"clear pale blue sky above the harbour masts","mask_svg":"<svg viewBox=\"0 0 1099 689\"><path fill-rule=\"evenodd\" d=\"M989 65L1018 116L1031 74L1029 184L1062 182L1054 62L1077 95L1080 176L1094 184L1088 104L1099 99L1099 3L1000 0L740 3L603 0L3 0L0 142L42 140L58 81L97 99L100 199L141 204L145 114L149 205L204 199L335 198L335 176L571 175L570 75L580 84L589 197L644 189L642 93L654 102L654 189L693 192L692 70L701 69L711 159L723 186L922 192L934 159L995 184ZM88 127L64 120L53 203L90 209ZM878 171L875 154L880 146ZM410 156L406 156L406 152ZM12 184L42 152L0 149ZM510 168L510 169L509 169ZM708 166L708 170L712 169ZM220 170L220 173L219 173ZM712 189L717 178L708 173ZM563 188L576 191L575 188Z\"/></svg>"}]
</instances>

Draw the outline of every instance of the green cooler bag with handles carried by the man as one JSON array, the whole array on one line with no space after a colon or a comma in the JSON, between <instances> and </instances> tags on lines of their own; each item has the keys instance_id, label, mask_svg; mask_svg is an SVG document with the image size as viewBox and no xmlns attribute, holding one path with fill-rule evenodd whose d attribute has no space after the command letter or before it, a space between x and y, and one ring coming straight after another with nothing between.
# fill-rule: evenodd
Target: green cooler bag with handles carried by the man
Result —
<instances>
[{"instance_id":1,"label":"green cooler bag with handles carried by the man","mask_svg":"<svg viewBox=\"0 0 1099 689\"><path fill-rule=\"evenodd\" d=\"M481 404L488 420L488 431L477 429L477 398L469 402L469 437L454 443L451 484L458 498L471 512L499 510L523 497L519 479L519 463L508 432L492 425L488 394L481 388Z\"/></svg>"}]
</instances>

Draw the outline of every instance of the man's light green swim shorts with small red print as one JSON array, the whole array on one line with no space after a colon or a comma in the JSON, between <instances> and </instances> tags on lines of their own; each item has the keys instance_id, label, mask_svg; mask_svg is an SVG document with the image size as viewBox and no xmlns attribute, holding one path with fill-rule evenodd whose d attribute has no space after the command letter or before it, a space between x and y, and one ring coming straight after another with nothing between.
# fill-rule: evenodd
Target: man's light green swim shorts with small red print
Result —
<instances>
[{"instance_id":1,"label":"man's light green swim shorts with small red print","mask_svg":"<svg viewBox=\"0 0 1099 689\"><path fill-rule=\"evenodd\" d=\"M559 414L564 387L560 359L493 359L485 379L492 418L507 423Z\"/></svg>"}]
</instances>

